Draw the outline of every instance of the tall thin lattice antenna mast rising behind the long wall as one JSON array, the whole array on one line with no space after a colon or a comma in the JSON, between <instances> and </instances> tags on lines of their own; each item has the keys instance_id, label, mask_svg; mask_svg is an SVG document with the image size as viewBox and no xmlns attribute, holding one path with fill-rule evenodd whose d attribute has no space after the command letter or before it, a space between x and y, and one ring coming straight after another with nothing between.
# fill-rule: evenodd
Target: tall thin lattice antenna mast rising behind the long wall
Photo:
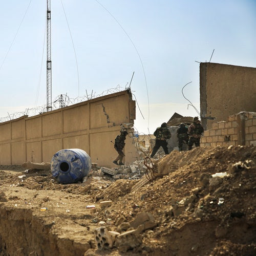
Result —
<instances>
[{"instance_id":1,"label":"tall thin lattice antenna mast rising behind the long wall","mask_svg":"<svg viewBox=\"0 0 256 256\"><path fill-rule=\"evenodd\" d=\"M51 60L51 0L47 0L47 103L46 111L52 110L52 60Z\"/></svg>"}]
</instances>

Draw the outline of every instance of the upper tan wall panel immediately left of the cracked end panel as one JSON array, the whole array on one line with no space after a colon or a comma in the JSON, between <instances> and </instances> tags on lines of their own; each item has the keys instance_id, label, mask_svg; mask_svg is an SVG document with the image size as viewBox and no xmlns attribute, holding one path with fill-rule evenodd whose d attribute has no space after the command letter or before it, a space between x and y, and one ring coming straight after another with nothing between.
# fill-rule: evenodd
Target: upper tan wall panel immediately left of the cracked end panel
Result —
<instances>
[{"instance_id":1,"label":"upper tan wall panel immediately left of the cracked end panel","mask_svg":"<svg viewBox=\"0 0 256 256\"><path fill-rule=\"evenodd\" d=\"M88 104L63 110L63 133L88 130Z\"/></svg>"}]
</instances>

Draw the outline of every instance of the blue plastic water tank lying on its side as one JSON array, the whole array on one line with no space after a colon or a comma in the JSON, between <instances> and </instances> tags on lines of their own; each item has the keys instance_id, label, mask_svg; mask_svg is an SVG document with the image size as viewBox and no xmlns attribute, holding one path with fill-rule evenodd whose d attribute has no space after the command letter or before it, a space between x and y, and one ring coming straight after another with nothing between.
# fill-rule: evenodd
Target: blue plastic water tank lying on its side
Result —
<instances>
[{"instance_id":1,"label":"blue plastic water tank lying on its side","mask_svg":"<svg viewBox=\"0 0 256 256\"><path fill-rule=\"evenodd\" d=\"M75 183L89 175L92 167L90 156L79 148L60 150L51 161L53 177L62 184Z\"/></svg>"}]
</instances>

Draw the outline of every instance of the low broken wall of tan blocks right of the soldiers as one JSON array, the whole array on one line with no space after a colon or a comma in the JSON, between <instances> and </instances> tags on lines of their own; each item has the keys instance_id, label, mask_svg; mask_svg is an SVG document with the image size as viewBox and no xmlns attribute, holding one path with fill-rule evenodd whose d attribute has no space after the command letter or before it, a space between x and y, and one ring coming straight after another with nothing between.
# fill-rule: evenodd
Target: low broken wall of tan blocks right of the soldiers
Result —
<instances>
[{"instance_id":1,"label":"low broken wall of tan blocks right of the soldiers","mask_svg":"<svg viewBox=\"0 0 256 256\"><path fill-rule=\"evenodd\" d=\"M201 137L202 147L254 145L256 146L256 113L241 112L227 121L212 123L212 129Z\"/></svg>"}]
</instances>

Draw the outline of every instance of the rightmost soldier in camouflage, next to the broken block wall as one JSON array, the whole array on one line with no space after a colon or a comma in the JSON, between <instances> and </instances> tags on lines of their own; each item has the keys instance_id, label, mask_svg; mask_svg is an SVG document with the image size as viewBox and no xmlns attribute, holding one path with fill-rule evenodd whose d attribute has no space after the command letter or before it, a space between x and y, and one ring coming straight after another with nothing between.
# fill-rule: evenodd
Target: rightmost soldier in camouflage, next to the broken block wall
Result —
<instances>
[{"instance_id":1,"label":"rightmost soldier in camouflage, next to the broken block wall","mask_svg":"<svg viewBox=\"0 0 256 256\"><path fill-rule=\"evenodd\" d=\"M196 146L200 146L200 138L202 133L204 132L203 125L198 120L198 117L193 118L193 123L190 124L188 127L188 150L192 149L193 144L195 143Z\"/></svg>"}]
</instances>

